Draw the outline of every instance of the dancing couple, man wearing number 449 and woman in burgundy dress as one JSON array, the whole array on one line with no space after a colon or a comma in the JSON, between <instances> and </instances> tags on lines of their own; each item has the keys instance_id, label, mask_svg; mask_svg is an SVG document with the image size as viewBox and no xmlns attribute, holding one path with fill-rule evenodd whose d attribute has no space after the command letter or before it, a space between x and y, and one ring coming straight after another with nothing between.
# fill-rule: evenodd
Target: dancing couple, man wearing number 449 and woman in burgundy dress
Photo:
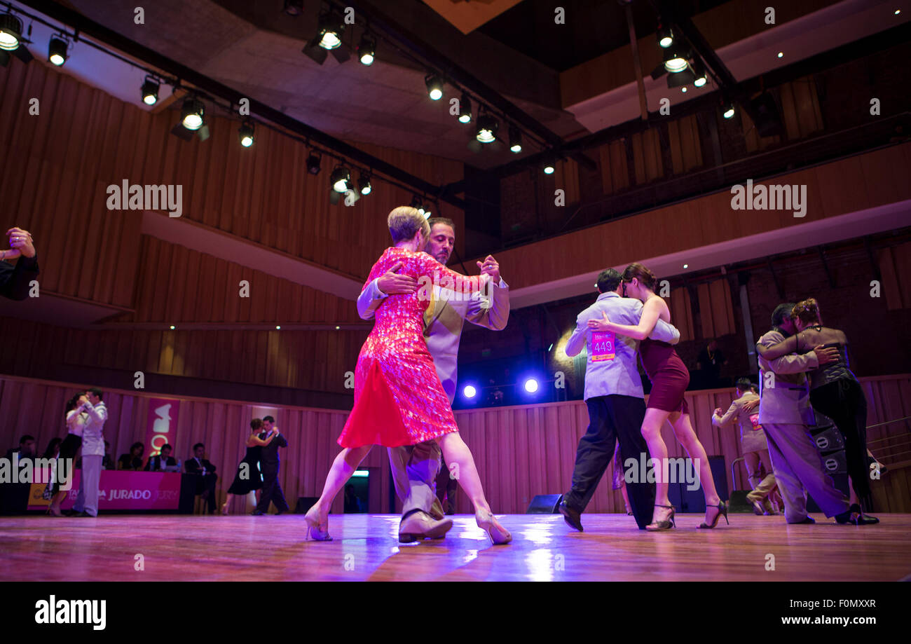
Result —
<instances>
[{"instance_id":1,"label":"dancing couple, man wearing number 449 and woman in burgundy dress","mask_svg":"<svg viewBox=\"0 0 911 644\"><path fill-rule=\"evenodd\" d=\"M694 463L699 464L699 480L705 495L705 520L699 527L713 528L724 516L727 506L715 489L709 458L692 428L689 408L683 397L690 383L690 372L671 342L680 333L670 326L670 309L655 294L655 275L639 263L630 264L620 275L609 269L599 275L600 295L589 309L580 313L577 329L567 344L567 354L581 351L582 342L589 347L586 370L586 404L589 406L589 430L578 445L573 485L559 509L567 523L582 529L579 515L588 505L601 475L613 456L615 438L619 440L624 462L640 461L640 436L648 446L655 463L654 503L650 484L637 480L629 486L630 507L640 528L668 530L675 526L675 508L668 498L668 480L664 475L668 448L661 437L661 426L670 422L678 442ZM635 305L631 298L641 302ZM608 312L614 316L611 320ZM635 322L635 323L619 323ZM618 338L617 336L622 336ZM650 337L651 336L651 337ZM671 340L671 342L667 342ZM636 367L636 341L642 366L651 381L649 402L642 414L642 389ZM591 377L595 376L595 377ZM589 389L589 378L591 389ZM605 446L609 445L608 449ZM644 475L644 473L643 473ZM650 523L644 518L651 515Z\"/></svg>"}]
</instances>

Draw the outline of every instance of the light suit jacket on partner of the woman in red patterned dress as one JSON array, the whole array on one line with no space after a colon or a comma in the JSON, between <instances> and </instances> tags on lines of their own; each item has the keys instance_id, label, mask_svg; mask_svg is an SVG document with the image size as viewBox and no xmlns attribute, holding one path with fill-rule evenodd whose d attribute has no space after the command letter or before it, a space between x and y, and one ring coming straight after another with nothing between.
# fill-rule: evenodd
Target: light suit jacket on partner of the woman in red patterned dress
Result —
<instances>
[{"instance_id":1,"label":"light suit jacket on partner of the woman in red patterned dress","mask_svg":"<svg viewBox=\"0 0 911 644\"><path fill-rule=\"evenodd\" d=\"M379 278L377 278L378 280ZM374 311L383 303L385 294L376 280L367 284L357 298L357 312L363 320L372 320ZM509 321L509 286L502 279L491 283L489 294L474 292L470 298L435 302L433 319L424 321L424 338L427 350L434 358L436 374L443 383L443 390L452 404L458 371L458 345L462 340L465 321L478 326L502 331Z\"/></svg>"}]
</instances>

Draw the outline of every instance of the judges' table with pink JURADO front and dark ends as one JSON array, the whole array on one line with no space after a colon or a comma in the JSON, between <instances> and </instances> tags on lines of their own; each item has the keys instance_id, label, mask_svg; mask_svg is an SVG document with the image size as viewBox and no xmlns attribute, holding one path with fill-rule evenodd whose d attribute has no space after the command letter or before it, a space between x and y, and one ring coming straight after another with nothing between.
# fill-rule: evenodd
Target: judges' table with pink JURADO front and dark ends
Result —
<instances>
[{"instance_id":1,"label":"judges' table with pink JURADO front and dark ends","mask_svg":"<svg viewBox=\"0 0 911 644\"><path fill-rule=\"evenodd\" d=\"M71 509L76 503L81 475L81 470L73 472L73 480L61 509ZM192 514L199 479L199 475L179 472L102 470L98 483L98 512ZM21 514L26 510L46 510L50 501L42 496L45 487L42 483L0 485L3 512Z\"/></svg>"}]
</instances>

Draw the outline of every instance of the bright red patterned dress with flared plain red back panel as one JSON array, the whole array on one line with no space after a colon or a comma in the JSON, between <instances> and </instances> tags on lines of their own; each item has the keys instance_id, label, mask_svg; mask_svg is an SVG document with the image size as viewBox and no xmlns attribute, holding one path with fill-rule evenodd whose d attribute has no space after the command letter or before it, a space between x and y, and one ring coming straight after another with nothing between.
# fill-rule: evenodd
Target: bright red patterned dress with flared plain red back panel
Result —
<instances>
[{"instance_id":1,"label":"bright red patterned dress with flared plain red back panel","mask_svg":"<svg viewBox=\"0 0 911 644\"><path fill-rule=\"evenodd\" d=\"M424 340L424 312L432 300L431 284L451 288L446 282L452 281L461 284L458 293L469 293L481 290L483 276L450 271L425 252L389 248L364 286L399 261L398 273L414 277L418 290L390 295L376 310L374 330L354 370L354 407L338 440L343 447L415 445L458 431Z\"/></svg>"}]
</instances>

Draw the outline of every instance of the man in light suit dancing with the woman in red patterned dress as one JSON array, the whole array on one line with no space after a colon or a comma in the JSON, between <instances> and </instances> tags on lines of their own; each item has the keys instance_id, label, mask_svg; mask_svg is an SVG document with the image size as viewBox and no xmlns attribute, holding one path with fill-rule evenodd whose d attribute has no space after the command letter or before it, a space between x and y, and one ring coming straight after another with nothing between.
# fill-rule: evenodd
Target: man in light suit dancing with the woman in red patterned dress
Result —
<instances>
[{"instance_id":1,"label":"man in light suit dancing with the woman in red patterned dress","mask_svg":"<svg viewBox=\"0 0 911 644\"><path fill-rule=\"evenodd\" d=\"M430 240L425 251L444 264L455 248L455 227L452 220L435 217L428 220ZM449 396L455 398L458 345L465 321L494 331L502 331L509 319L509 286L500 277L496 260L487 255L477 262L482 273L491 276L490 290L469 297L440 295L434 286L433 300L424 314L424 338L434 357L436 374ZM413 293L418 285L414 278L399 275L398 267L367 284L357 299L357 311L364 320L371 320L374 311L387 295ZM402 522L399 541L410 543L425 537L443 537L452 527L452 519L443 514L435 495L435 479L440 468L440 448L434 441L418 445L389 448L395 492L402 500Z\"/></svg>"}]
</instances>

